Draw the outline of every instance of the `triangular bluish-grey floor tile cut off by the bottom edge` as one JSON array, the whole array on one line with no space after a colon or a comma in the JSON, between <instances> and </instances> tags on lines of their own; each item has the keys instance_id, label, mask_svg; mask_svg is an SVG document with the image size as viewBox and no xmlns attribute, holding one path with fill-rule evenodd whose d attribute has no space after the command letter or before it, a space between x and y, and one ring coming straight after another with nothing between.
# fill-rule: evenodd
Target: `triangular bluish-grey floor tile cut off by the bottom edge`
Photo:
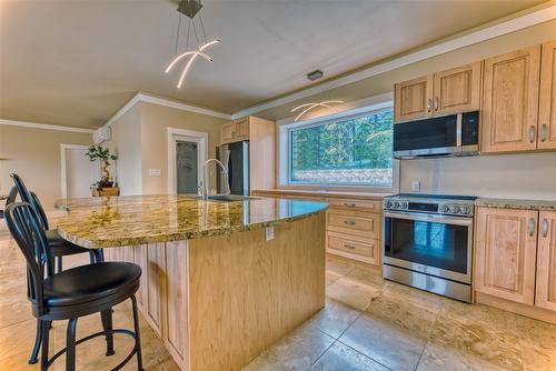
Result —
<instances>
[{"instance_id":1,"label":"triangular bluish-grey floor tile cut off by the bottom edge","mask_svg":"<svg viewBox=\"0 0 556 371\"><path fill-rule=\"evenodd\" d=\"M310 368L311 371L388 371L370 358L337 341Z\"/></svg>"}]
</instances>

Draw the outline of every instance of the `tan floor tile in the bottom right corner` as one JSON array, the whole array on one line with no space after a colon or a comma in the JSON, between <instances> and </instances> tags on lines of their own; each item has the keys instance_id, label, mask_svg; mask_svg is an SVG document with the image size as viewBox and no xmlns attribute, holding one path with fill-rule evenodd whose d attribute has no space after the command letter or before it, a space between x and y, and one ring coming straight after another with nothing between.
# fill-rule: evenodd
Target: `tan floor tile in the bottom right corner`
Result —
<instances>
[{"instance_id":1,"label":"tan floor tile in the bottom right corner","mask_svg":"<svg viewBox=\"0 0 556 371\"><path fill-rule=\"evenodd\" d=\"M524 370L556 370L556 325L518 315Z\"/></svg>"}]
</instances>

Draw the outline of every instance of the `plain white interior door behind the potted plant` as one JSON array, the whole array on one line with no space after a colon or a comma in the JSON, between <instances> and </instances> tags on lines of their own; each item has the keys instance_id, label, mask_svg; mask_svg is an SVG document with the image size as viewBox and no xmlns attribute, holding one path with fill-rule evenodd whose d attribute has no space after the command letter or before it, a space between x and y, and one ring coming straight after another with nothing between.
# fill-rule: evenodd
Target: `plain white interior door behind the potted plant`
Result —
<instances>
[{"instance_id":1,"label":"plain white interior door behind the potted plant","mask_svg":"<svg viewBox=\"0 0 556 371\"><path fill-rule=\"evenodd\" d=\"M91 197L90 187L100 179L100 166L85 156L88 149L62 144L62 198Z\"/></svg>"}]
</instances>

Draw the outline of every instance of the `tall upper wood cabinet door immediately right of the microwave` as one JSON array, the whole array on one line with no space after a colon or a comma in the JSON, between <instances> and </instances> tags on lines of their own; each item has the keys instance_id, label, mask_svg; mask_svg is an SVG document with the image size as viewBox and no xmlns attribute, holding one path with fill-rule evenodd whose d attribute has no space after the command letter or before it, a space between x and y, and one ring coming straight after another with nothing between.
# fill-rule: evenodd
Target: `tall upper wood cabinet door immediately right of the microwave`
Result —
<instances>
[{"instance_id":1,"label":"tall upper wood cabinet door immediately right of the microwave","mask_svg":"<svg viewBox=\"0 0 556 371\"><path fill-rule=\"evenodd\" d=\"M485 61L481 151L537 148L540 46Z\"/></svg>"}]
</instances>

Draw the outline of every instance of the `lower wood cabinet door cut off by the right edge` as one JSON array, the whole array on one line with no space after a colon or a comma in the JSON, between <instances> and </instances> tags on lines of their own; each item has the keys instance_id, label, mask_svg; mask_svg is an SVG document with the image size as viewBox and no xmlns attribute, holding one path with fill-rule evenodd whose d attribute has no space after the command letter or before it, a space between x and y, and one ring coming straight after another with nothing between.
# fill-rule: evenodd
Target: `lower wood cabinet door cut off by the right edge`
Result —
<instances>
[{"instance_id":1,"label":"lower wood cabinet door cut off by the right edge","mask_svg":"<svg viewBox=\"0 0 556 371\"><path fill-rule=\"evenodd\" d=\"M540 212L539 223L535 304L556 310L556 212Z\"/></svg>"}]
</instances>

